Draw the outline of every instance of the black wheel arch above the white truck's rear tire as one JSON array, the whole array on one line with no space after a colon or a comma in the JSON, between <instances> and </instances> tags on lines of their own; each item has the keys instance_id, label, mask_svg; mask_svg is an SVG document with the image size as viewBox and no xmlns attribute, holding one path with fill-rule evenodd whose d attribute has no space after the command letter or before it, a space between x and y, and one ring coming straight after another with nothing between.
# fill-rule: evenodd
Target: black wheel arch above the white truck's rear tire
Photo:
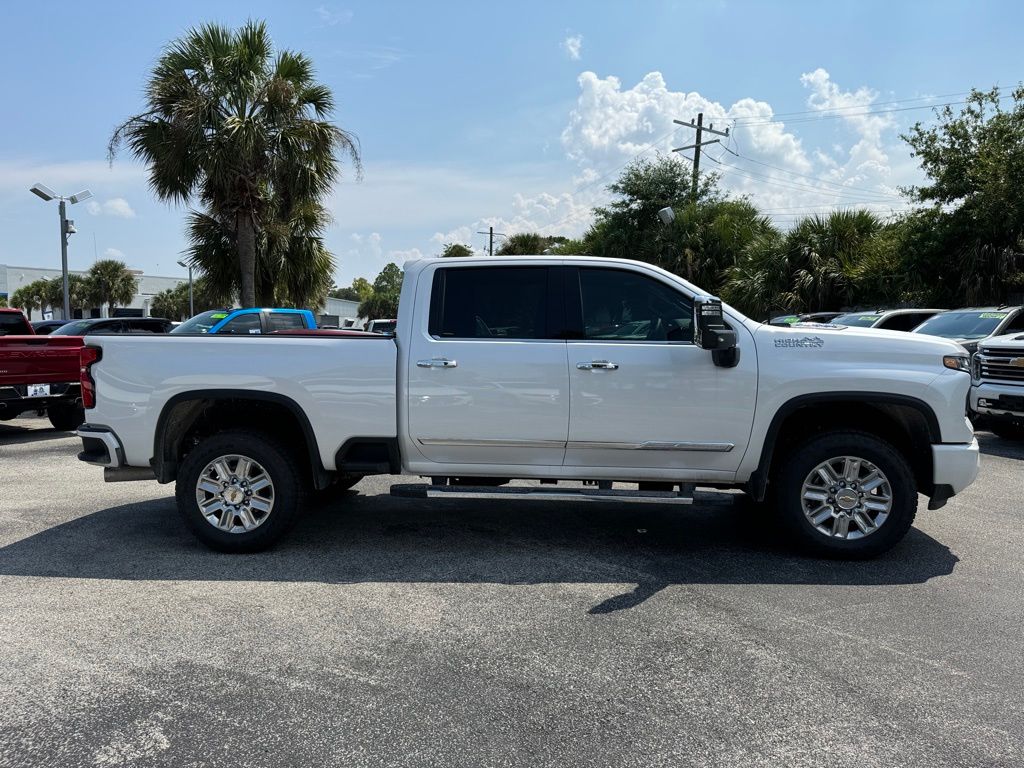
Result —
<instances>
[{"instance_id":1,"label":"black wheel arch above the white truck's rear tire","mask_svg":"<svg viewBox=\"0 0 1024 768\"><path fill-rule=\"evenodd\" d=\"M216 407L216 410L211 411L212 407ZM257 431L304 449L314 487L327 487L330 473L321 459L316 435L309 418L299 403L276 392L244 389L194 389L178 392L164 403L157 419L153 458L150 460L157 479L160 482L171 482L177 478L184 443L189 436L196 435L198 431L220 431L239 426L242 410L252 413L254 407L256 413L273 422L262 425Z\"/></svg>"}]
</instances>

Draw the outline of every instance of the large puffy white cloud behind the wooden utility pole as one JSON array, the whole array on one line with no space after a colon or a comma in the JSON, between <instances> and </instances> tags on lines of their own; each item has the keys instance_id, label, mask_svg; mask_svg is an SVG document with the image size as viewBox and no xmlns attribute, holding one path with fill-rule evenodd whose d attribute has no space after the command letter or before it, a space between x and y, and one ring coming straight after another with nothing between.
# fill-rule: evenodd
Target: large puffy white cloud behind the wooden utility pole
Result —
<instances>
[{"instance_id":1,"label":"large puffy white cloud behind the wooden utility pole","mask_svg":"<svg viewBox=\"0 0 1024 768\"><path fill-rule=\"evenodd\" d=\"M749 196L782 221L839 205L869 205L879 212L904 205L895 195L891 148L887 150L897 140L895 122L890 116L858 114L874 101L874 91L843 90L824 70L804 74L800 83L810 91L812 112L839 109L829 117L845 115L827 123L853 131L852 145L842 144L845 157L837 157L833 135L824 148L813 144L807 148L807 136L798 135L775 117L771 104L754 97L723 104L696 91L670 89L658 72L648 73L632 87L593 72L584 72L578 82L580 93L561 134L566 156L580 169L570 193L574 204L593 198L638 156L669 154L675 146L692 143L694 131L673 120L688 122L703 113L706 126L728 127L730 136L705 136L721 143L705 150L701 171L720 172L726 189ZM794 127L808 126L804 133L813 138L820 133L811 121L816 122L813 115L794 121ZM682 155L692 157L692 151ZM901 173L912 174L913 169L903 168Z\"/></svg>"}]
</instances>

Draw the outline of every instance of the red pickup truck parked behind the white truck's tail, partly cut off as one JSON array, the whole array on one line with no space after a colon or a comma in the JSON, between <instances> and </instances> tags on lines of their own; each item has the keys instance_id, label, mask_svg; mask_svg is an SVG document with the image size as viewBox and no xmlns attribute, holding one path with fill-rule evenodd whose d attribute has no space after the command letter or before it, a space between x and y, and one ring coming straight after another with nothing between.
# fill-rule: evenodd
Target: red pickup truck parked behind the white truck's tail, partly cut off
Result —
<instances>
[{"instance_id":1,"label":"red pickup truck parked behind the white truck's tail, partly cut off","mask_svg":"<svg viewBox=\"0 0 1024 768\"><path fill-rule=\"evenodd\" d=\"M36 336L20 309L0 309L0 421L46 410L56 429L82 423L80 336Z\"/></svg>"}]
</instances>

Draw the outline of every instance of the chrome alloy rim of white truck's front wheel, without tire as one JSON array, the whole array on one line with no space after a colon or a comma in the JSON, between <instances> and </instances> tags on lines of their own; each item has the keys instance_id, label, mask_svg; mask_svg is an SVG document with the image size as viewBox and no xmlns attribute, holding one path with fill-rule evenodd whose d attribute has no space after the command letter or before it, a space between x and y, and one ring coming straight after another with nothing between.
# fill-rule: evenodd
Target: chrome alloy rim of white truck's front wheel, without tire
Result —
<instances>
[{"instance_id":1,"label":"chrome alloy rim of white truck's front wheel, without tire","mask_svg":"<svg viewBox=\"0 0 1024 768\"><path fill-rule=\"evenodd\" d=\"M804 480L804 515L820 534L863 539L882 527L893 507L885 473L869 461L839 456L821 462Z\"/></svg>"}]
</instances>

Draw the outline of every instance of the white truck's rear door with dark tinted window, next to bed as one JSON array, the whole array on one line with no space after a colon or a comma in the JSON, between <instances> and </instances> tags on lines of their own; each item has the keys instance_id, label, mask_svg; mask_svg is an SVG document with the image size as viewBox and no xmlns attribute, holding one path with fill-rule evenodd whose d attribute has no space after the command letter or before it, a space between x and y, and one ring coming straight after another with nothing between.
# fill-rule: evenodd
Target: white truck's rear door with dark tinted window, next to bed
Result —
<instances>
[{"instance_id":1,"label":"white truck's rear door with dark tinted window, next to bed","mask_svg":"<svg viewBox=\"0 0 1024 768\"><path fill-rule=\"evenodd\" d=\"M556 270L440 264L421 274L413 338L398 341L409 437L428 461L561 466L568 372Z\"/></svg>"}]
</instances>

